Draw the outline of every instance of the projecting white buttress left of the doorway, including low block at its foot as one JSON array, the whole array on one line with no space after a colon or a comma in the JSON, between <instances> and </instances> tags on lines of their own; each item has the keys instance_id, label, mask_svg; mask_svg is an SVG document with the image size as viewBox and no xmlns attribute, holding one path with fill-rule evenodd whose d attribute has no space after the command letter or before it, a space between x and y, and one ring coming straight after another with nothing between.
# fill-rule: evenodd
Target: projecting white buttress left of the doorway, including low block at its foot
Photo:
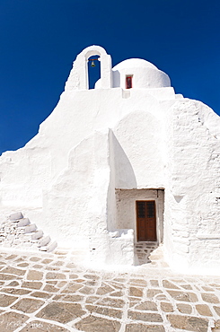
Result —
<instances>
[{"instance_id":1,"label":"projecting white buttress left of the doorway, including low block at its foot","mask_svg":"<svg viewBox=\"0 0 220 332\"><path fill-rule=\"evenodd\" d=\"M87 250L87 263L132 265L133 231L108 232L112 225L108 225L107 206L113 207L115 200L111 190L114 194L109 131L105 130L90 135L70 152L68 168L45 192L44 227L61 246Z\"/></svg>"}]
</instances>

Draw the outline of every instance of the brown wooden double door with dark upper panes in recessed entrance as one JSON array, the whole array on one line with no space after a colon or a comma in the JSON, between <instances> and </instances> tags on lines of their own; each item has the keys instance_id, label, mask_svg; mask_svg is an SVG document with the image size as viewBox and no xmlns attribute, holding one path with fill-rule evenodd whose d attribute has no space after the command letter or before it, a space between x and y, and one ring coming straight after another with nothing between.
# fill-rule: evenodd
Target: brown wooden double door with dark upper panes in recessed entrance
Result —
<instances>
[{"instance_id":1,"label":"brown wooden double door with dark upper panes in recessed entrance","mask_svg":"<svg viewBox=\"0 0 220 332\"><path fill-rule=\"evenodd\" d=\"M136 201L137 241L156 241L155 201Z\"/></svg>"}]
</instances>

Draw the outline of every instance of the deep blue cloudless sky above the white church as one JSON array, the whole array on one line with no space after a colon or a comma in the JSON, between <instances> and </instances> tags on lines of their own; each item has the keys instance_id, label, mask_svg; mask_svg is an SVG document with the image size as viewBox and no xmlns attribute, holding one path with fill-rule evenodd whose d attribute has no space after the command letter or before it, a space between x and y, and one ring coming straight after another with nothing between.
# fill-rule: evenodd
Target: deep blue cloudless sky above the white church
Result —
<instances>
[{"instance_id":1,"label":"deep blue cloudless sky above the white church","mask_svg":"<svg viewBox=\"0 0 220 332\"><path fill-rule=\"evenodd\" d=\"M141 57L220 115L219 0L0 0L0 153L38 133L75 57ZM83 121L83 119L82 119Z\"/></svg>"}]
</instances>

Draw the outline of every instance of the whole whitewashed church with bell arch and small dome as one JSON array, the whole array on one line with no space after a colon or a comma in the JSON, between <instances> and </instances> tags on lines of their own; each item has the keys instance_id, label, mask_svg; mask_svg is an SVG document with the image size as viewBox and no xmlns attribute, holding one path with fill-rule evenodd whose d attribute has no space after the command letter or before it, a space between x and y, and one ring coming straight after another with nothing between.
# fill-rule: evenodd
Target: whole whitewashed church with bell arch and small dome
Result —
<instances>
[{"instance_id":1,"label":"whole whitewashed church with bell arch and small dome","mask_svg":"<svg viewBox=\"0 0 220 332\"><path fill-rule=\"evenodd\" d=\"M91 57L101 78L89 90ZM0 157L1 220L22 211L35 239L41 229L101 264L133 265L134 243L153 241L179 271L220 274L219 166L212 109L175 94L153 64L112 68L105 49L91 46L39 134ZM20 248L7 230L2 246Z\"/></svg>"}]
</instances>

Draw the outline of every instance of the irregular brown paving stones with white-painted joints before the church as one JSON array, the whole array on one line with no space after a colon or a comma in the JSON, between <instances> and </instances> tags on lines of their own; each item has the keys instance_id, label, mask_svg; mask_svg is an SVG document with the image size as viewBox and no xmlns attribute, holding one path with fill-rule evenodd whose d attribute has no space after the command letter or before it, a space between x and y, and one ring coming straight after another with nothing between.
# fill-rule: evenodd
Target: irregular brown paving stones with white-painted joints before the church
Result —
<instances>
[{"instance_id":1,"label":"irregular brown paving stones with white-painted joints before the church","mask_svg":"<svg viewBox=\"0 0 220 332\"><path fill-rule=\"evenodd\" d=\"M103 271L61 249L2 250L0 331L220 331L220 277L174 274L161 247L136 253L142 265Z\"/></svg>"}]
</instances>

